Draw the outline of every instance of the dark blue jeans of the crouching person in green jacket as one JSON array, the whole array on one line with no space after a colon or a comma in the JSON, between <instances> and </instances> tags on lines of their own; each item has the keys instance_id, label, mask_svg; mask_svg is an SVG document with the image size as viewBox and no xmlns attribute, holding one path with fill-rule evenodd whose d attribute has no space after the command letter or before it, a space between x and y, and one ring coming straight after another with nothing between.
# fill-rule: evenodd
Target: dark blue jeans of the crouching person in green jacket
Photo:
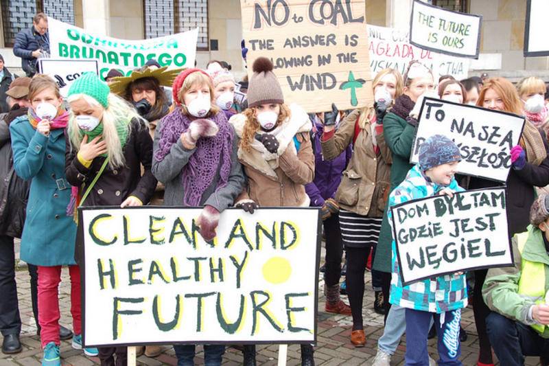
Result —
<instances>
[{"instance_id":1,"label":"dark blue jeans of the crouching person in green jacket","mask_svg":"<svg viewBox=\"0 0 549 366\"><path fill-rule=\"evenodd\" d=\"M542 338L528 325L491 312L486 318L486 327L502 366L522 366L524 356L549 358L549 339Z\"/></svg>"}]
</instances>

